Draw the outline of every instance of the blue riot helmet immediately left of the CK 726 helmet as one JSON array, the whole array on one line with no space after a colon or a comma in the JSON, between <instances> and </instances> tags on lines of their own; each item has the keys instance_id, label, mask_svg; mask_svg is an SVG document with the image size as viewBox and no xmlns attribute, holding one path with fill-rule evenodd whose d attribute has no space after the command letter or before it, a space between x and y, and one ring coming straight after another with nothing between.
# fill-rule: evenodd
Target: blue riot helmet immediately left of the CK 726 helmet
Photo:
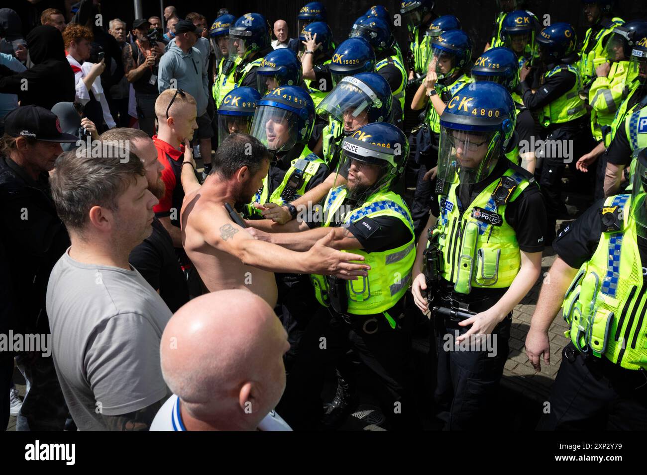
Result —
<instances>
[{"instance_id":1,"label":"blue riot helmet immediately left of the CK 726 helmet","mask_svg":"<svg viewBox=\"0 0 647 475\"><path fill-rule=\"evenodd\" d=\"M451 30L431 39L426 70L433 63L438 80L468 69L472 59L472 40L463 30Z\"/></svg>"}]
</instances>

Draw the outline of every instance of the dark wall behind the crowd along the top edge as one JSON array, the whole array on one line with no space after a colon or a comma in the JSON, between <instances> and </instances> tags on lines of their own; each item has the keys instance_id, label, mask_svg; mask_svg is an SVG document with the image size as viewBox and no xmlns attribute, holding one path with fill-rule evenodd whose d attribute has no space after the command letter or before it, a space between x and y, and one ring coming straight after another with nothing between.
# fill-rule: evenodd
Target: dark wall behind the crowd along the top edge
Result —
<instances>
[{"instance_id":1,"label":"dark wall behind the crowd along the top edge","mask_svg":"<svg viewBox=\"0 0 647 475\"><path fill-rule=\"evenodd\" d=\"M184 17L189 12L199 12L207 17L211 24L219 8L228 8L230 13L241 16L248 12L258 12L267 17L270 23L277 19L288 22L290 36L296 36L296 15L307 0L215 0L209 3L199 0L164 0L164 6L175 5L178 14ZM391 14L397 14L400 5L395 0L323 0L327 8L328 23L333 29L337 43L347 37L355 19L364 14L366 10L376 3L386 6ZM618 0L617 9L625 20L647 19L647 1L645 0ZM142 8L146 17L160 16L159 0L142 0ZM526 8L543 20L543 15L550 15L551 22L569 21L578 30L578 38L584 34L582 19L582 3L579 0L528 0ZM104 0L102 11L107 20L120 17L129 27L133 21L133 2L128 0ZM437 0L435 11L441 15L453 14L457 16L463 28L469 32L474 41L474 55L483 50L485 43L490 39L492 22L496 16L496 2L494 0ZM106 21L107 24L107 21ZM404 48L406 43L406 26L394 26L394 32Z\"/></svg>"}]
</instances>

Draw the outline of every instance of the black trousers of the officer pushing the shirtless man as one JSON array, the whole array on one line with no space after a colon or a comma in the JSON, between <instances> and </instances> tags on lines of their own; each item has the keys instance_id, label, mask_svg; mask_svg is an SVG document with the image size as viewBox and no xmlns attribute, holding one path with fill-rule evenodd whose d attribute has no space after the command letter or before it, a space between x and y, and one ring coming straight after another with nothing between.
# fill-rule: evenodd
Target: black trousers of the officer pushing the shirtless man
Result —
<instances>
[{"instance_id":1,"label":"black trousers of the officer pushing the shirtless man","mask_svg":"<svg viewBox=\"0 0 647 475\"><path fill-rule=\"evenodd\" d=\"M277 408L292 428L321 428L326 370L344 366L351 349L373 383L374 396L380 401L389 428L415 427L418 414L411 396L411 317L401 311L389 311L389 315L397 322L395 329L381 313L342 317L320 306L302 335Z\"/></svg>"}]
</instances>

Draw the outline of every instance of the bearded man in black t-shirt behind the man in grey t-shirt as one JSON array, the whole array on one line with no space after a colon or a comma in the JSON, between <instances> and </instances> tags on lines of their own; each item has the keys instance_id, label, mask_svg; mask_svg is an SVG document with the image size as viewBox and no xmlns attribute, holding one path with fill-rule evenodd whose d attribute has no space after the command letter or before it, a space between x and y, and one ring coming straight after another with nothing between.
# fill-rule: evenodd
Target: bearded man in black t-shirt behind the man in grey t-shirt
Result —
<instances>
[{"instance_id":1,"label":"bearded man in black t-shirt behind the man in grey t-shirt","mask_svg":"<svg viewBox=\"0 0 647 475\"><path fill-rule=\"evenodd\" d=\"M158 200L164 197L164 165L157 160L157 149L146 132L127 128L111 129L104 132L100 139L104 142L128 140L131 152L144 164L148 190ZM153 219L153 232L131 251L128 261L158 291L171 311L176 311L189 301L186 279L175 255L171 235L157 217Z\"/></svg>"}]
</instances>

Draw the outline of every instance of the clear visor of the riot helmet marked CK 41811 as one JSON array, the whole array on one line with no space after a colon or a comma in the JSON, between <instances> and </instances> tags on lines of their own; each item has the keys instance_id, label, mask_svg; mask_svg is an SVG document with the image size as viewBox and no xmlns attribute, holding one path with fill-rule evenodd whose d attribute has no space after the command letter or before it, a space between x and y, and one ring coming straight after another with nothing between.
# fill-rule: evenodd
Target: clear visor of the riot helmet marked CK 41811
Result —
<instances>
[{"instance_id":1,"label":"clear visor of the riot helmet marked CK 41811","mask_svg":"<svg viewBox=\"0 0 647 475\"><path fill-rule=\"evenodd\" d=\"M258 138L272 152L288 151L297 139L297 117L294 112L259 105L254 112L250 135Z\"/></svg>"}]
</instances>

